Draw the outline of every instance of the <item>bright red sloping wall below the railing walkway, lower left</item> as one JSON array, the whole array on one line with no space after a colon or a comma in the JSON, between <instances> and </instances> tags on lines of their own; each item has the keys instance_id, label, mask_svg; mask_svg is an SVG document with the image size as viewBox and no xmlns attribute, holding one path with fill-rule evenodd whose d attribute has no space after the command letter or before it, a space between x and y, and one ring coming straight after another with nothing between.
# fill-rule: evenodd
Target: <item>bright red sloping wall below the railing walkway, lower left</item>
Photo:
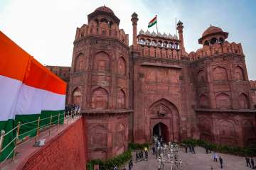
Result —
<instances>
[{"instance_id":1,"label":"bright red sloping wall below the railing walkway, lower left","mask_svg":"<svg viewBox=\"0 0 256 170\"><path fill-rule=\"evenodd\" d=\"M82 118L33 154L21 169L86 169L87 149Z\"/></svg>"}]
</instances>

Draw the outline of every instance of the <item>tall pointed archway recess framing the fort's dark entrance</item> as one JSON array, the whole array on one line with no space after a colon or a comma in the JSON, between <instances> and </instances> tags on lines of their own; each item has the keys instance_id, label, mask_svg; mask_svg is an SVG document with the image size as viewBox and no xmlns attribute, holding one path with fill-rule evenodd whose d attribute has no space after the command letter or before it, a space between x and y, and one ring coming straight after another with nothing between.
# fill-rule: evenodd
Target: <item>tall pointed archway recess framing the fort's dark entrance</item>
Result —
<instances>
[{"instance_id":1,"label":"tall pointed archway recess framing the fort's dark entrance","mask_svg":"<svg viewBox=\"0 0 256 170\"><path fill-rule=\"evenodd\" d=\"M151 104L147 115L149 142L151 142L153 135L163 137L165 142L178 142L180 140L178 109L173 103L162 98Z\"/></svg>"}]
</instances>

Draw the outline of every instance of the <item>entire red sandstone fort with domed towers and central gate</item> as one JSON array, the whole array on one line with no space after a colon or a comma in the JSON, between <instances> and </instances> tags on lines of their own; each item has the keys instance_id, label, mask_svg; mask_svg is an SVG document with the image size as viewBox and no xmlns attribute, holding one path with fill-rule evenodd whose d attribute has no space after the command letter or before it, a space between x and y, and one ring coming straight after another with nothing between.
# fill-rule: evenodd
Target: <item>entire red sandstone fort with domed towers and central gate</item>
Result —
<instances>
[{"instance_id":1,"label":"entire red sandstone fort with domed towers and central gate","mask_svg":"<svg viewBox=\"0 0 256 170\"><path fill-rule=\"evenodd\" d=\"M186 52L183 23L176 35L119 29L102 6L77 28L71 67L48 66L68 82L67 103L81 106L89 159L107 159L128 142L186 138L245 147L256 142L256 82L249 81L242 45L210 26L196 52Z\"/></svg>"}]
</instances>

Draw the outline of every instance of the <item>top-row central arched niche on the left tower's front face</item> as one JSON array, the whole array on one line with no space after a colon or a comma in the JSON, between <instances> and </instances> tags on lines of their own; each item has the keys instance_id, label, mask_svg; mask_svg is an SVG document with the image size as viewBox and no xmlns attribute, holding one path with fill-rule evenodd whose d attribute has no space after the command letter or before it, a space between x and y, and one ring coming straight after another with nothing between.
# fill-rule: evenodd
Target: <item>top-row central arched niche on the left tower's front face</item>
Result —
<instances>
[{"instance_id":1,"label":"top-row central arched niche on the left tower's front face","mask_svg":"<svg viewBox=\"0 0 256 170\"><path fill-rule=\"evenodd\" d=\"M110 71L110 57L105 52L99 52L94 57L94 69L97 71Z\"/></svg>"}]
</instances>

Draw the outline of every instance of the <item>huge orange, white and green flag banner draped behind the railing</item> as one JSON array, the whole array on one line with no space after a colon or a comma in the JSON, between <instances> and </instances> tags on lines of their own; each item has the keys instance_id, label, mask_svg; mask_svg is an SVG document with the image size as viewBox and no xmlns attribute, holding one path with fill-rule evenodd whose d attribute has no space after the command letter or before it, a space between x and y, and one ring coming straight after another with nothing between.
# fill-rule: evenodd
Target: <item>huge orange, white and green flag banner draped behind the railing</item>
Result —
<instances>
[{"instance_id":1,"label":"huge orange, white and green flag banner draped behind the railing","mask_svg":"<svg viewBox=\"0 0 256 170\"><path fill-rule=\"evenodd\" d=\"M59 113L63 118L66 84L0 31L0 130L9 132L18 122L28 123ZM53 118L57 120L58 116ZM63 121L63 119L62 119ZM42 120L40 127L50 119ZM37 122L22 125L20 139L36 135ZM55 121L56 124L56 121ZM4 146L16 131L4 137ZM3 147L4 147L3 146ZM3 160L13 149L1 153Z\"/></svg>"}]
</instances>

